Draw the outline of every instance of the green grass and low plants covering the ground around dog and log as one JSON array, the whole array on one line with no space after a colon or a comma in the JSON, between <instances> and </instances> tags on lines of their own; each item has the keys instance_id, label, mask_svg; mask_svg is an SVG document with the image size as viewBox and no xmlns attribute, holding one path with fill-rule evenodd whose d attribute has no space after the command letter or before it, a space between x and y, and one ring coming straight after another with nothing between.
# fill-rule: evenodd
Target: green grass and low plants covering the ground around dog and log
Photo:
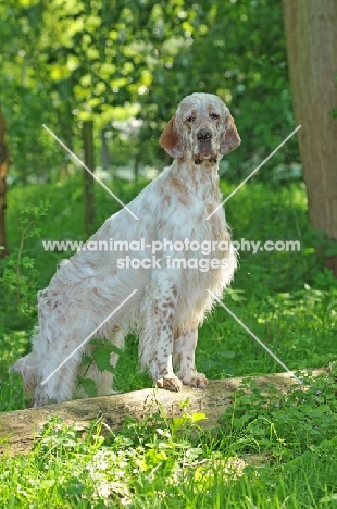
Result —
<instances>
[{"instance_id":1,"label":"green grass and low plants covering the ground around dog and log","mask_svg":"<svg viewBox=\"0 0 337 509\"><path fill-rule=\"evenodd\" d=\"M127 202L141 185L122 188L116 182L113 190ZM41 238L84 238L79 187L73 177L66 185L11 189L13 259L23 204L49 199L50 211L38 224ZM228 194L232 187L224 184L223 189ZM99 226L116 204L100 188L96 193ZM247 186L228 201L226 213L236 239L301 241L300 252L242 252L226 306L291 370L335 361L337 284L323 269L328 243L309 226L302 186ZM27 286L18 305L13 303L13 288L0 281L1 411L25 406L18 377L7 370L29 348L36 291L48 284L64 253L46 253L40 239L32 237L24 256ZM200 330L197 367L209 378L283 371L220 306ZM295 390L288 399L272 388L262 395L250 384L212 433L196 433L188 417L183 425L160 414L154 424L130 419L118 433L96 423L87 434L55 420L29 455L0 460L0 507L337 507L335 377L334 368L322 380L308 380L305 396ZM130 336L117 367L116 388L149 386L149 376L139 372L137 340Z\"/></svg>"}]
</instances>

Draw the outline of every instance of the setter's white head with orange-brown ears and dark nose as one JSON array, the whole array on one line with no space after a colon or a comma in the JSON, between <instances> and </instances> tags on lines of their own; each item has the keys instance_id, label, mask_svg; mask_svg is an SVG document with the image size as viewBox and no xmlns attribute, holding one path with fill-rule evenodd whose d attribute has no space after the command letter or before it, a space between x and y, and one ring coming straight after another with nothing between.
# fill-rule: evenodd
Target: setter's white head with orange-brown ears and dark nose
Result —
<instances>
[{"instance_id":1,"label":"setter's white head with orange-brown ears and dark nose","mask_svg":"<svg viewBox=\"0 0 337 509\"><path fill-rule=\"evenodd\" d=\"M219 161L241 142L226 104L213 94L191 94L180 102L160 138L175 159Z\"/></svg>"}]
</instances>

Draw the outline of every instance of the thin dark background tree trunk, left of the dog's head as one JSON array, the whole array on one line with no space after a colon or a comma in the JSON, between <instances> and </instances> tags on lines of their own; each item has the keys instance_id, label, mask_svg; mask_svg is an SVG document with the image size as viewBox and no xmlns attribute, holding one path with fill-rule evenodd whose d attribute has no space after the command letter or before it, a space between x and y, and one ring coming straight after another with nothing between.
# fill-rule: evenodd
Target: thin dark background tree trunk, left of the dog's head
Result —
<instances>
[{"instance_id":1,"label":"thin dark background tree trunk, left of the dog's head","mask_svg":"<svg viewBox=\"0 0 337 509\"><path fill-rule=\"evenodd\" d=\"M93 122L86 121L83 123L83 141L85 151L85 165L95 171L93 156ZM93 176L84 169L84 202L85 202L85 234L87 237L93 233L95 223L95 195L93 195Z\"/></svg>"}]
</instances>

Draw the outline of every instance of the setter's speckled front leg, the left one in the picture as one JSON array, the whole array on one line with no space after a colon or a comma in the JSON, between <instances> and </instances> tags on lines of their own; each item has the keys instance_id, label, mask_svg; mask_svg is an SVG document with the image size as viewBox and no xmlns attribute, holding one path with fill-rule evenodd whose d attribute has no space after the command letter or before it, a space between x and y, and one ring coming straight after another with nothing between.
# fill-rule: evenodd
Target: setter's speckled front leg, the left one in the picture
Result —
<instances>
[{"instance_id":1,"label":"setter's speckled front leg, the left one in the picture","mask_svg":"<svg viewBox=\"0 0 337 509\"><path fill-rule=\"evenodd\" d=\"M141 305L142 328L139 355L158 387L180 390L182 382L173 372L174 316L177 289L171 274L158 271L152 275Z\"/></svg>"}]
</instances>

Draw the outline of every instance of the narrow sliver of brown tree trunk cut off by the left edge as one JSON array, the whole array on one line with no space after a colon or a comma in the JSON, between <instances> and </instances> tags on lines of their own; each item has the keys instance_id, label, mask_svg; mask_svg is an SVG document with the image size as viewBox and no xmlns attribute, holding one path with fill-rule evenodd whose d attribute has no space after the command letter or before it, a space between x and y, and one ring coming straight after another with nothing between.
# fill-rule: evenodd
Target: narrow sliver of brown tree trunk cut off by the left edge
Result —
<instances>
[{"instance_id":1,"label":"narrow sliver of brown tree trunk cut off by the left edge","mask_svg":"<svg viewBox=\"0 0 337 509\"><path fill-rule=\"evenodd\" d=\"M9 167L9 151L5 146L5 122L0 107L0 258L8 253L5 235L7 184L5 177Z\"/></svg>"}]
</instances>

